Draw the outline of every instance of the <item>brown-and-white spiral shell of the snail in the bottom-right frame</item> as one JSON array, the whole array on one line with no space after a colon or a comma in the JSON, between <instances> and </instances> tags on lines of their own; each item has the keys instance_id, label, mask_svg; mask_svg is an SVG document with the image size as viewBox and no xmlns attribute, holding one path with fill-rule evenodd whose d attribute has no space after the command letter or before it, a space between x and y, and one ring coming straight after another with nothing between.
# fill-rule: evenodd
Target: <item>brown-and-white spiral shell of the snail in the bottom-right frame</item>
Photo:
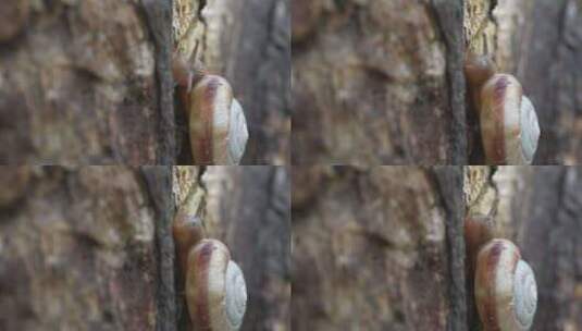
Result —
<instances>
[{"instance_id":1,"label":"brown-and-white spiral shell of the snail in the bottom-right frame","mask_svg":"<svg viewBox=\"0 0 582 331\"><path fill-rule=\"evenodd\" d=\"M529 330L537 306L533 270L507 240L492 240L478 255L475 299L484 330Z\"/></svg>"}]
</instances>

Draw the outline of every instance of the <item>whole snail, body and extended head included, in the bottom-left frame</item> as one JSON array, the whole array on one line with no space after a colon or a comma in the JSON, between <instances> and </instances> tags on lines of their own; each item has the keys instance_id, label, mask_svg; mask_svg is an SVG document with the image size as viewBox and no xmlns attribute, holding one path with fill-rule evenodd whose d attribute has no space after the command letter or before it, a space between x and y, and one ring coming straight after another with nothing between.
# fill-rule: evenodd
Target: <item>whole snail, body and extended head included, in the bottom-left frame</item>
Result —
<instances>
[{"instance_id":1,"label":"whole snail, body and extended head included, in the bottom-left frame","mask_svg":"<svg viewBox=\"0 0 582 331\"><path fill-rule=\"evenodd\" d=\"M202 221L191 211L183 206L172 230L194 330L238 330L247 306L243 271L223 243L205 238Z\"/></svg>"}]
</instances>

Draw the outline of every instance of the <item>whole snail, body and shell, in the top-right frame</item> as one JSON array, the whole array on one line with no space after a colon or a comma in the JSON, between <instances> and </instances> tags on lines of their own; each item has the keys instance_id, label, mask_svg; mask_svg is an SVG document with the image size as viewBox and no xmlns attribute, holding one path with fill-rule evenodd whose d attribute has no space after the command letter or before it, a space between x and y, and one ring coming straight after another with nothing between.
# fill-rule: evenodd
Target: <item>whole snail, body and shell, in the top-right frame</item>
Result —
<instances>
[{"instance_id":1,"label":"whole snail, body and shell, in the top-right frame","mask_svg":"<svg viewBox=\"0 0 582 331\"><path fill-rule=\"evenodd\" d=\"M535 109L521 84L509 74L495 73L486 57L468 54L465 74L479 112L488 164L530 164L540 139Z\"/></svg>"}]
</instances>

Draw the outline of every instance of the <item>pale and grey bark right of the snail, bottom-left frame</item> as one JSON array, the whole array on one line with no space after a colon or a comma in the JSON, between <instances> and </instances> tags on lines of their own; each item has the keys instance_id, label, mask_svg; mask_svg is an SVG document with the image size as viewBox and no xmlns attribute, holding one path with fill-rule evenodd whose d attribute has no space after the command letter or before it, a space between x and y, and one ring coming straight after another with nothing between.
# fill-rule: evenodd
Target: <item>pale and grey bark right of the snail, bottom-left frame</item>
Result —
<instances>
[{"instance_id":1,"label":"pale and grey bark right of the snail, bottom-left frame","mask_svg":"<svg viewBox=\"0 0 582 331\"><path fill-rule=\"evenodd\" d=\"M198 170L175 169L179 200ZM210 167L200 177L208 236L228 246L245 274L249 299L242 330L290 330L289 180L283 167Z\"/></svg>"}]
</instances>

